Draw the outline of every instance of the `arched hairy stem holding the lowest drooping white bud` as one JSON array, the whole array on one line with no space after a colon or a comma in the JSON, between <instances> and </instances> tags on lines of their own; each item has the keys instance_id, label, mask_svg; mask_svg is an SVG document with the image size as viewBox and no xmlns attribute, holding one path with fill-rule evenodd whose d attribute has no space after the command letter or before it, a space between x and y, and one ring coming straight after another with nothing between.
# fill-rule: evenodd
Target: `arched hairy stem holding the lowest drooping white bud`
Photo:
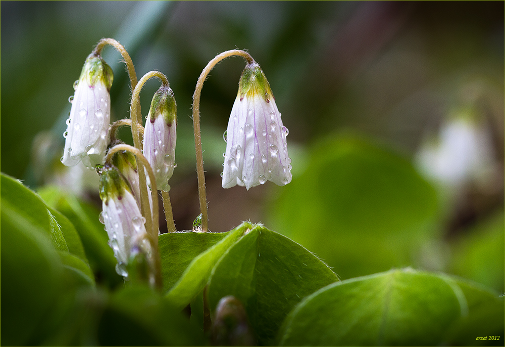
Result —
<instances>
[{"instance_id":1,"label":"arched hairy stem holding the lowest drooping white bud","mask_svg":"<svg viewBox=\"0 0 505 347\"><path fill-rule=\"evenodd\" d=\"M119 151L128 151L133 153L136 158L137 158L137 165L140 163L143 164L143 166L147 169L147 174L149 175L149 180L151 181L151 185L153 187L156 187L156 178L153 172L153 168L149 165L149 162L147 159L144 157L142 152L133 146L126 145L126 144L120 144L112 147L109 152L107 153L107 156L105 158L106 163L110 163L112 161L112 157L116 152ZM143 169L142 169L143 170ZM151 245L153 246L153 256L155 260L155 278L156 278L156 286L158 288L162 288L162 277L161 277L161 258L160 258L160 253L158 251L158 230L159 230L159 225L158 225L158 196L156 195L156 189L151 190L151 196L153 198L153 213L149 215L150 218L145 219L145 224L146 224L146 229L148 230L149 234L149 240L151 242ZM147 200L148 201L148 200Z\"/></svg>"}]
</instances>

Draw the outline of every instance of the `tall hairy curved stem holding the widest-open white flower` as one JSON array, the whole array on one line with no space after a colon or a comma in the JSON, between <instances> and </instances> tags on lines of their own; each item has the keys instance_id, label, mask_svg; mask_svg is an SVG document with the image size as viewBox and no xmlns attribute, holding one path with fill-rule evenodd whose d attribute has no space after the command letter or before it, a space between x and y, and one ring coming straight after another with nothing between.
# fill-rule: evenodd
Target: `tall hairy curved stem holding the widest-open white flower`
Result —
<instances>
[{"instance_id":1,"label":"tall hairy curved stem holding the widest-open white flower","mask_svg":"<svg viewBox=\"0 0 505 347\"><path fill-rule=\"evenodd\" d=\"M193 132L194 132L194 147L196 152L196 171L198 175L198 196L200 199L201 213L201 231L208 231L208 216L207 216L207 197L205 192L205 174L204 174L204 154L201 150L201 132L200 132L200 94L204 86L204 81L207 78L212 68L221 60L231 57L241 56L247 60L247 63L253 63L254 59L244 51L230 50L218 54L212 59L207 66L201 71L200 77L196 82L196 88L193 94Z\"/></svg>"}]
</instances>

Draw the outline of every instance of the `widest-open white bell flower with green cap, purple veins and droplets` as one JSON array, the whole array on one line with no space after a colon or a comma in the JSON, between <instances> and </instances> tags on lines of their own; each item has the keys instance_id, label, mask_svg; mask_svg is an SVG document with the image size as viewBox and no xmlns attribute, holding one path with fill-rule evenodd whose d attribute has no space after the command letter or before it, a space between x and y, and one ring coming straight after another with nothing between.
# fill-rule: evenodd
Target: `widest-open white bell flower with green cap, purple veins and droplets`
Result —
<instances>
[{"instance_id":1,"label":"widest-open white bell flower with green cap, purple veins and droplets","mask_svg":"<svg viewBox=\"0 0 505 347\"><path fill-rule=\"evenodd\" d=\"M291 182L287 134L265 74L257 63L248 64L224 135L223 188Z\"/></svg>"}]
</instances>

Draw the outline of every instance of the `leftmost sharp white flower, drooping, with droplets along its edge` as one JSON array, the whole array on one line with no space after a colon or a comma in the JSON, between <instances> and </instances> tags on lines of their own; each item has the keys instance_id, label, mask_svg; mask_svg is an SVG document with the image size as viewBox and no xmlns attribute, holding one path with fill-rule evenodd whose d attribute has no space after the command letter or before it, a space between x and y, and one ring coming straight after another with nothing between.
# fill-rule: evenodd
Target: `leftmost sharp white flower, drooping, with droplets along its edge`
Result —
<instances>
[{"instance_id":1,"label":"leftmost sharp white flower, drooping, with droplets along its edge","mask_svg":"<svg viewBox=\"0 0 505 347\"><path fill-rule=\"evenodd\" d=\"M61 159L67 166L82 160L88 168L103 164L109 144L113 72L105 61L90 54L81 76L74 84L70 117L64 133L65 150Z\"/></svg>"}]
</instances>

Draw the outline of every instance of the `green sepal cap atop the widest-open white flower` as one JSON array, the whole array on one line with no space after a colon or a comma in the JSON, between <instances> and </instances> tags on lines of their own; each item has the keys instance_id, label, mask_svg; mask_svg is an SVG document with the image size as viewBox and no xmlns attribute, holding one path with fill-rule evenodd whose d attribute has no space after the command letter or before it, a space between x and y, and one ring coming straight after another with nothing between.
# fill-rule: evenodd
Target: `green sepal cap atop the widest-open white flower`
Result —
<instances>
[{"instance_id":1,"label":"green sepal cap atop the widest-open white flower","mask_svg":"<svg viewBox=\"0 0 505 347\"><path fill-rule=\"evenodd\" d=\"M252 98L254 95L262 96L267 103L270 102L271 98L274 98L267 77L256 62L247 64L240 76L238 85L240 101L242 101L244 96Z\"/></svg>"}]
</instances>

